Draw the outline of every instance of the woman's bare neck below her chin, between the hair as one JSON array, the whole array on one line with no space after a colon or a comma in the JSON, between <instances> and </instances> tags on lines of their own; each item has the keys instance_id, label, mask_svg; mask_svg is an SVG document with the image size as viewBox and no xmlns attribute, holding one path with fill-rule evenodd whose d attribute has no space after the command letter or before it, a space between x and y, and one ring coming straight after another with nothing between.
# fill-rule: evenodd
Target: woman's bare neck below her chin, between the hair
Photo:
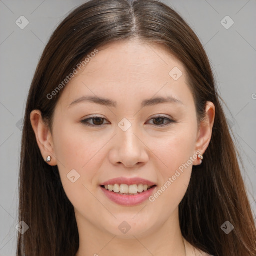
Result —
<instances>
[{"instance_id":1,"label":"woman's bare neck below her chin, between the hair","mask_svg":"<svg viewBox=\"0 0 256 256\"><path fill-rule=\"evenodd\" d=\"M186 255L186 242L179 227L178 210L153 230L132 233L131 227L124 236L98 228L77 212L76 222L80 244L76 256Z\"/></svg>"}]
</instances>

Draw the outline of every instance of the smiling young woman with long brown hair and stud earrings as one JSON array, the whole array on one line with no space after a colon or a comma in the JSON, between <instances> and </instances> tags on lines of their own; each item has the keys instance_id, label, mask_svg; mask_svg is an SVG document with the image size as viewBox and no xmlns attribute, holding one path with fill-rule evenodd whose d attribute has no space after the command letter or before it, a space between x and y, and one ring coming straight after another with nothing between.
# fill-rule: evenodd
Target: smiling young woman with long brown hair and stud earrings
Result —
<instances>
[{"instance_id":1,"label":"smiling young woman with long brown hair and stud earrings","mask_svg":"<svg viewBox=\"0 0 256 256\"><path fill-rule=\"evenodd\" d=\"M92 0L29 91L17 255L256 255L207 55L155 0Z\"/></svg>"}]
</instances>

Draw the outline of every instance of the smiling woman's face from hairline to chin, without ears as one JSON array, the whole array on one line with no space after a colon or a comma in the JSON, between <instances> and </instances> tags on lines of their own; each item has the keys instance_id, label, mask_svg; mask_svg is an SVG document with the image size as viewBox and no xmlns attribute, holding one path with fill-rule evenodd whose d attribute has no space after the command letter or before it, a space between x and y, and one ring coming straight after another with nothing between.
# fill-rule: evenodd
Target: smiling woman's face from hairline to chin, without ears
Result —
<instances>
[{"instance_id":1,"label":"smiling woman's face from hairline to chin, without ears","mask_svg":"<svg viewBox=\"0 0 256 256\"><path fill-rule=\"evenodd\" d=\"M56 105L54 156L78 226L139 237L177 221L198 164L195 104L183 65L162 46L122 41L98 50ZM139 184L154 186L141 192Z\"/></svg>"}]
</instances>

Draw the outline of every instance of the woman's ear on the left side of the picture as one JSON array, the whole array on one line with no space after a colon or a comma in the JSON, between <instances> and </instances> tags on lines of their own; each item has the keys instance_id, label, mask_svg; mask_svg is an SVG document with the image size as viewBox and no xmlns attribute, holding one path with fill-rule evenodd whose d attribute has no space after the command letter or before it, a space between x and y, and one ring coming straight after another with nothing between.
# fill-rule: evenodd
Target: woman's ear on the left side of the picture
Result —
<instances>
[{"instance_id":1,"label":"woman's ear on the left side of the picture","mask_svg":"<svg viewBox=\"0 0 256 256\"><path fill-rule=\"evenodd\" d=\"M54 157L52 136L48 125L43 121L41 111L33 110L30 113L30 121L44 161L50 155L51 161L47 163L51 166L57 165L56 158Z\"/></svg>"}]
</instances>

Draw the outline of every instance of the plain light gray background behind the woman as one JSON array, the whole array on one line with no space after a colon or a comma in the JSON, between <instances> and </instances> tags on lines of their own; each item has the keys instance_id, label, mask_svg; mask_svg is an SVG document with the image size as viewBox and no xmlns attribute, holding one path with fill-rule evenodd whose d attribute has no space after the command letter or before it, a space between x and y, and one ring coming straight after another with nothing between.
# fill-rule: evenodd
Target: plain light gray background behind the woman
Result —
<instances>
[{"instance_id":1,"label":"plain light gray background behind the woman","mask_svg":"<svg viewBox=\"0 0 256 256\"><path fill-rule=\"evenodd\" d=\"M28 89L49 36L83 2L0 0L0 255L15 255L16 250L20 119ZM209 56L228 107L224 110L244 161L242 175L256 214L256 1L163 2L190 24ZM22 15L29 21L24 29L15 23ZM231 24L230 19L223 19L227 15L234 21L228 29L223 26Z\"/></svg>"}]
</instances>

